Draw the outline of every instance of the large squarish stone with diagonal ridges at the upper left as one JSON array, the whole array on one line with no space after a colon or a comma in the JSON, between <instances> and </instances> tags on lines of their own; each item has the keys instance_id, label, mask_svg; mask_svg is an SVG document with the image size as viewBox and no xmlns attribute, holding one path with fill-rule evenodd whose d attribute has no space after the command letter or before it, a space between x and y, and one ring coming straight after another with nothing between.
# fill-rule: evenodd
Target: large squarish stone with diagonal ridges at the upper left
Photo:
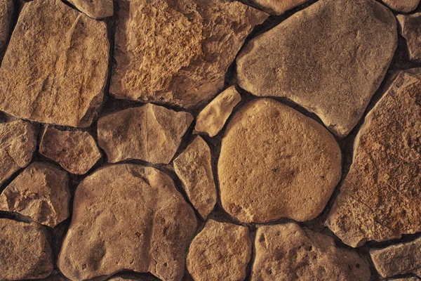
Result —
<instances>
[{"instance_id":1,"label":"large squarish stone with diagonal ridges at the upper left","mask_svg":"<svg viewBox=\"0 0 421 281\"><path fill-rule=\"evenodd\" d=\"M0 110L36 122L89 126L102 103L108 56L105 22L60 0L26 3L0 67Z\"/></svg>"}]
</instances>

